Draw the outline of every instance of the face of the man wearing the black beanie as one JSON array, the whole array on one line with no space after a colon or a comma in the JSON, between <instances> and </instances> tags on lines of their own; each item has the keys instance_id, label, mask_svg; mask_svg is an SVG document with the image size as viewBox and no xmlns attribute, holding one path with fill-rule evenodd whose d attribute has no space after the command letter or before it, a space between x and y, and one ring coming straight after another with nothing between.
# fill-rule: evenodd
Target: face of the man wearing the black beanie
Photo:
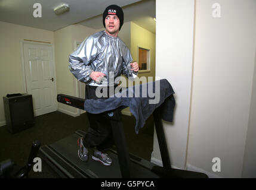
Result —
<instances>
[{"instance_id":1,"label":"face of the man wearing the black beanie","mask_svg":"<svg viewBox=\"0 0 256 190\"><path fill-rule=\"evenodd\" d=\"M119 32L120 20L116 15L107 15L105 18L106 30L112 36L117 36Z\"/></svg>"}]
</instances>

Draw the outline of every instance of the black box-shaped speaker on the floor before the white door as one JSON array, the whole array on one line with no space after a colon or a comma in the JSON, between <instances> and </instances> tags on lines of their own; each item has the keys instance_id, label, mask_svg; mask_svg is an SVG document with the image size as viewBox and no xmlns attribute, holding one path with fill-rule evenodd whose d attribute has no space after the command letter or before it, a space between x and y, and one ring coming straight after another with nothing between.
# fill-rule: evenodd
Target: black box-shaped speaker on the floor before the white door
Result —
<instances>
[{"instance_id":1,"label":"black box-shaped speaker on the floor before the white door","mask_svg":"<svg viewBox=\"0 0 256 190\"><path fill-rule=\"evenodd\" d=\"M8 131L16 133L34 125L31 94L7 94L3 100Z\"/></svg>"}]
</instances>

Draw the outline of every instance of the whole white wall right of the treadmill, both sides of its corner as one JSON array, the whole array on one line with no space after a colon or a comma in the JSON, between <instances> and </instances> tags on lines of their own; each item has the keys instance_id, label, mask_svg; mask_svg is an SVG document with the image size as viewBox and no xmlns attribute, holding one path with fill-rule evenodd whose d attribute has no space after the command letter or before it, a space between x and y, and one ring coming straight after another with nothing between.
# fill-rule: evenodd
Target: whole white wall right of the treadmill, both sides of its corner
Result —
<instances>
[{"instance_id":1,"label":"whole white wall right of the treadmill, both sides of its corner","mask_svg":"<svg viewBox=\"0 0 256 190\"><path fill-rule=\"evenodd\" d=\"M220 0L220 18L212 17L216 1L195 2L194 38L194 1L156 0L156 76L171 83L177 103L173 124L164 122L172 165L255 177L256 1ZM221 172L212 172L214 157Z\"/></svg>"}]
</instances>

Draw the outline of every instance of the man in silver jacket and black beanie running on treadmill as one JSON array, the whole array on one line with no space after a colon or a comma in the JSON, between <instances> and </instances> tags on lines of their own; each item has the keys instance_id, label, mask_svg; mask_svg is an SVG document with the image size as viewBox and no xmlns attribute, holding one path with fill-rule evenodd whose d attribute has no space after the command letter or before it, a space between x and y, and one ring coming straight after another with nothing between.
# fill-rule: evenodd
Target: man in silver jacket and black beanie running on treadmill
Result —
<instances>
[{"instance_id":1,"label":"man in silver jacket and black beanie running on treadmill","mask_svg":"<svg viewBox=\"0 0 256 190\"><path fill-rule=\"evenodd\" d=\"M92 34L69 56L69 69L79 80L84 81L85 99L107 99L112 95L110 86L118 85L121 74L134 80L138 75L138 64L132 62L131 53L118 33L124 24L124 12L118 5L110 5L103 12L106 30ZM113 76L112 76L113 75ZM115 78L113 83L110 78ZM107 90L107 97L98 97L97 88ZM104 88L104 89L103 89ZM87 112L90 128L78 139L78 157L87 162L89 148L94 148L93 160L105 166L112 164L106 153L114 144L110 121L98 114Z\"/></svg>"}]
</instances>

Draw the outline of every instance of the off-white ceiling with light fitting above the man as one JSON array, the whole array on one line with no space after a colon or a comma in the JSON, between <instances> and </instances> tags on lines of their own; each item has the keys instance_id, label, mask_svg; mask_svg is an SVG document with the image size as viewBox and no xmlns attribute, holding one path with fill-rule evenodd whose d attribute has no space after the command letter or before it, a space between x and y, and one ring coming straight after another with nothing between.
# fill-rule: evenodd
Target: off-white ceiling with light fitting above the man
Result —
<instances>
[{"instance_id":1,"label":"off-white ceiling with light fitting above the man","mask_svg":"<svg viewBox=\"0 0 256 190\"><path fill-rule=\"evenodd\" d=\"M33 4L42 5L42 17L33 17ZM69 11L56 15L53 8L69 4ZM81 24L92 29L102 29L102 13L112 4L124 11L124 22L135 24L155 33L153 20L156 12L155 0L0 0L0 21L55 31L70 24Z\"/></svg>"}]
</instances>

